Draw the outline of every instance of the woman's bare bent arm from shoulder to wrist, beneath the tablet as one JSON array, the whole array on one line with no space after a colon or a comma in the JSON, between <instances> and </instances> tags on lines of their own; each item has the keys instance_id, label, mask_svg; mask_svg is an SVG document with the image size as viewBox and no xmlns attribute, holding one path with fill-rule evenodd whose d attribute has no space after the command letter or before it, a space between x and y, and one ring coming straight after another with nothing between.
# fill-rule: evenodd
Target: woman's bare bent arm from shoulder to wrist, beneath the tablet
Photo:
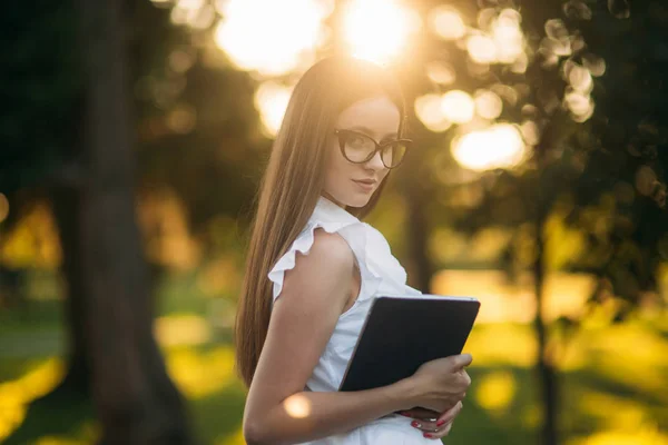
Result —
<instances>
[{"instance_id":1,"label":"woman's bare bent arm from shoulder to wrist, beneath the tablet","mask_svg":"<svg viewBox=\"0 0 668 445\"><path fill-rule=\"evenodd\" d=\"M308 255L286 273L246 400L248 444L313 441L414 406L410 380L363 392L304 390L346 304L353 265L343 238L316 230Z\"/></svg>"}]
</instances>

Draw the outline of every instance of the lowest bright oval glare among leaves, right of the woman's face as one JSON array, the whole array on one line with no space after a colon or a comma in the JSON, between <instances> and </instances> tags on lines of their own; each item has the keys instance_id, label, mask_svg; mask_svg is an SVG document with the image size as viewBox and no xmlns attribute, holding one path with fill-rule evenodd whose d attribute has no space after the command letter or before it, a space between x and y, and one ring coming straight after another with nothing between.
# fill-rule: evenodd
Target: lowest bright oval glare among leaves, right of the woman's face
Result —
<instances>
[{"instance_id":1,"label":"lowest bright oval glare among leaves, right of the woman's face","mask_svg":"<svg viewBox=\"0 0 668 445\"><path fill-rule=\"evenodd\" d=\"M484 130L471 131L452 144L452 155L471 170L489 170L515 166L523 157L524 141L518 128L497 123Z\"/></svg>"}]
</instances>

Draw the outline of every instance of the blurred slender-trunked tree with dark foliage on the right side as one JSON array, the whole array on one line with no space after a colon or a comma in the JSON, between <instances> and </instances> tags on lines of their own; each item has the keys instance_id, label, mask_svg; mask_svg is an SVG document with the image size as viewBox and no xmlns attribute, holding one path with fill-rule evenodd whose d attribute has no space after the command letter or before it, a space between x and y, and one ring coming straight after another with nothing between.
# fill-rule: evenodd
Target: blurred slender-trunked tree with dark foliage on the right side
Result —
<instances>
[{"instance_id":1,"label":"blurred slender-trunked tree with dark foliage on the right side","mask_svg":"<svg viewBox=\"0 0 668 445\"><path fill-rule=\"evenodd\" d=\"M590 297L589 308L608 298L625 301L617 306L617 316L611 319L615 323L656 296L658 266L666 259L661 244L668 227L661 179L666 159L658 155L666 144L659 109L666 97L656 69L665 62L661 51L648 58L638 50L666 41L666 9L658 2L633 3L631 13L628 3L615 1L609 8L610 14L601 9L592 11L582 1L548 2L541 8L522 4L524 32L540 50L525 72L530 90L521 111L538 125L539 138L522 168L483 172L472 184L456 187L473 187L482 194L469 210L451 212L456 215L455 227L468 234L490 225L533 225L532 263L520 259L527 255L517 250L519 243L510 243L503 258L512 263L509 271L529 266L534 278L537 369L544 403L541 443L546 444L559 443L559 357L557 349L549 347L553 340L550 334L554 329L572 333L581 322L562 317L553 326L547 325L546 274L556 267L596 274L600 285ZM542 43L547 38L568 42L559 49L568 48L557 63L550 60L554 53ZM587 73L580 71L582 76L578 76L579 67ZM590 73L603 72L606 76L591 86L597 99L591 119L574 122L568 108L573 99L569 95L578 89L574 83L591 81ZM639 86L647 89L636 88ZM560 243L548 230L549 220L554 218L566 218L564 224L586 239L581 256L561 265L551 257ZM515 231L515 237L521 235Z\"/></svg>"}]
</instances>

